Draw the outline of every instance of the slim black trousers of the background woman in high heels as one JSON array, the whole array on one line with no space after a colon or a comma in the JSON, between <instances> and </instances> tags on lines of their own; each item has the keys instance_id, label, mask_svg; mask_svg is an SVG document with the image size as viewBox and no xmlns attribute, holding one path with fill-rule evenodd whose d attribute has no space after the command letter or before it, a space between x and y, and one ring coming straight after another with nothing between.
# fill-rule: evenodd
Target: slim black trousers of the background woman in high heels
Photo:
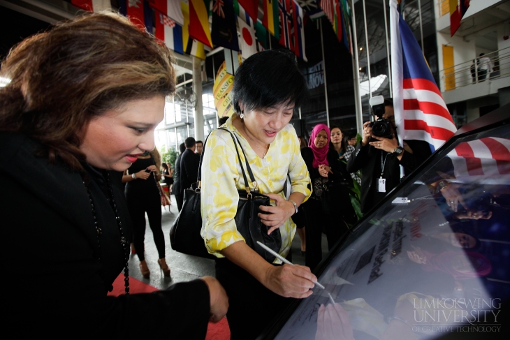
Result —
<instances>
[{"instance_id":1,"label":"slim black trousers of the background woman in high heels","mask_svg":"<svg viewBox=\"0 0 510 340\"><path fill-rule=\"evenodd\" d=\"M133 244L140 261L145 260L145 213L149 218L149 226L154 236L159 258L165 258L165 237L161 229L161 199L159 193L126 191L129 214L133 221Z\"/></svg>"}]
</instances>

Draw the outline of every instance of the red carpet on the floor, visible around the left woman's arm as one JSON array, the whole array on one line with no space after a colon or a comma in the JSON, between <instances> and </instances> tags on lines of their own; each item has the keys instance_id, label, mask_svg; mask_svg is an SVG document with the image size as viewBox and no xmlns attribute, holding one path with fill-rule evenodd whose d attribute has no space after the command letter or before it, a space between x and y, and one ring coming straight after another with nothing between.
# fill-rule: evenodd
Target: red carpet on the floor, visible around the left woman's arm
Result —
<instances>
[{"instance_id":1,"label":"red carpet on the floor, visible around the left woman's arm","mask_svg":"<svg viewBox=\"0 0 510 340\"><path fill-rule=\"evenodd\" d=\"M129 276L129 291L131 294L151 293L154 292L154 290L158 289ZM124 274L117 276L117 279L113 281L113 290L108 293L108 295L111 296L122 294L124 294ZM221 319L219 323L209 323L209 326L207 326L207 335L205 336L205 340L228 340L230 338L231 331L228 328L226 318Z\"/></svg>"}]
</instances>

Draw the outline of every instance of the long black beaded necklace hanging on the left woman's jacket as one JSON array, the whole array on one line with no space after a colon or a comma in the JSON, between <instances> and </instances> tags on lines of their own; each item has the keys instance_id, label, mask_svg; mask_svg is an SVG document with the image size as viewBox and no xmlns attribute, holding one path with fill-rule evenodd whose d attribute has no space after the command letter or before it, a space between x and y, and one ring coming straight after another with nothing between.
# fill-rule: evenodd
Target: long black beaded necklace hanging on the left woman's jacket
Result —
<instances>
[{"instance_id":1,"label":"long black beaded necklace hanging on the left woman's jacket","mask_svg":"<svg viewBox=\"0 0 510 340\"><path fill-rule=\"evenodd\" d=\"M92 194L90 193L89 186L83 180L83 185L85 189L87 189L87 194L89 195L90 207L92 209L92 216L94 217L94 227L97 232L97 246L99 249L98 260L101 260L101 234L103 230L101 230L101 226L97 223L96 216L96 208L94 206L94 200L92 199ZM110 194L110 204L112 205L112 209L115 212L115 221L117 221L117 226L119 226L120 232L120 244L122 244L122 251L124 251L124 260L126 261L126 265L124 267L124 291L126 295L129 295L129 247L127 244L126 237L124 237L124 228L122 228L122 221L120 221L119 211L117 210L117 202L115 202L115 197L113 196L112 184L110 182L110 172L106 172L106 185L108 186L108 193Z\"/></svg>"}]
</instances>

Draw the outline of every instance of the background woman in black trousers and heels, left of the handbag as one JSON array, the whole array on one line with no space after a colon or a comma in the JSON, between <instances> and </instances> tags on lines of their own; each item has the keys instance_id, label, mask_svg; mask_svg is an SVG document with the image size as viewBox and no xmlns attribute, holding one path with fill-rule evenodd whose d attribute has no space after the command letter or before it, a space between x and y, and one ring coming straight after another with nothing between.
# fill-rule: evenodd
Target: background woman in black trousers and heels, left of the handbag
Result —
<instances>
[{"instance_id":1,"label":"background woman in black trousers and heels, left of the handbag","mask_svg":"<svg viewBox=\"0 0 510 340\"><path fill-rule=\"evenodd\" d=\"M140 272L145 279L150 276L150 269L145 261L145 213L158 249L159 267L165 276L170 276L170 268L165 260L165 237L161 229L161 198L156 184L161 179L159 161L161 158L157 149L145 151L122 177L122 182L127 183L126 201L133 220L133 244L140 260Z\"/></svg>"}]
</instances>

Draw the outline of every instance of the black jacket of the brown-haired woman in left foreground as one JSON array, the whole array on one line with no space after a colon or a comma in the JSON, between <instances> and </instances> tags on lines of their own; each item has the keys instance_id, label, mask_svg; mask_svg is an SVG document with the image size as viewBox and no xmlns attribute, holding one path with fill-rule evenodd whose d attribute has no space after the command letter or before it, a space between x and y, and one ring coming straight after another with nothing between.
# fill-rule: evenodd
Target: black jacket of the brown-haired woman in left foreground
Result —
<instances>
[{"instance_id":1,"label":"black jacket of the brown-haired woman in left foreground","mask_svg":"<svg viewBox=\"0 0 510 340\"><path fill-rule=\"evenodd\" d=\"M107 297L124 267L105 184L107 171L85 165L102 230L98 239L78 172L37 156L41 145L20 134L0 133L0 148L0 207L8 254L3 274L15 278L15 289L2 297L6 325L19 335L163 337L171 330L175 339L205 337L210 302L201 280L151 294ZM122 173L110 172L124 235L129 237L121 178Z\"/></svg>"}]
</instances>

